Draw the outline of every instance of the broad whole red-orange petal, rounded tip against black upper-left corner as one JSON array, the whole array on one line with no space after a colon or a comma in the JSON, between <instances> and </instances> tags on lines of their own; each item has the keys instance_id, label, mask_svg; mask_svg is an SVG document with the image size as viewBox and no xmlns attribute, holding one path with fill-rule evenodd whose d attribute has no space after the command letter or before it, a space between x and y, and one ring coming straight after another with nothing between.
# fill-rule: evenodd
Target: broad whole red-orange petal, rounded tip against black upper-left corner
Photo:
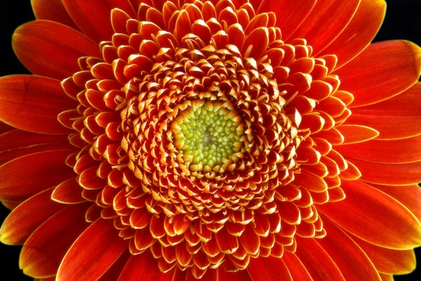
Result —
<instances>
[{"instance_id":1,"label":"broad whole red-orange petal, rounded tip against black upper-left corner","mask_svg":"<svg viewBox=\"0 0 421 281\"><path fill-rule=\"evenodd\" d=\"M80 71L77 59L101 57L100 48L80 32L48 20L27 22L12 38L20 62L33 74L64 79Z\"/></svg>"}]
</instances>

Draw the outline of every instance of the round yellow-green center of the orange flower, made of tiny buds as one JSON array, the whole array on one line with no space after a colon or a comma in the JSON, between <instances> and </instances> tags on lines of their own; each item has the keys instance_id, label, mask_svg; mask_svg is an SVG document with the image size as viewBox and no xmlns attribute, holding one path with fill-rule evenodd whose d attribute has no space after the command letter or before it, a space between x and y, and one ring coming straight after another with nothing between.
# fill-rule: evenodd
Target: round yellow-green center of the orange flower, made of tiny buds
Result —
<instances>
[{"instance_id":1,"label":"round yellow-green center of the orange flower, made of tiny buds","mask_svg":"<svg viewBox=\"0 0 421 281\"><path fill-rule=\"evenodd\" d=\"M224 172L241 157L239 116L232 118L222 103L195 102L175 118L175 147L194 172Z\"/></svg>"}]
</instances>

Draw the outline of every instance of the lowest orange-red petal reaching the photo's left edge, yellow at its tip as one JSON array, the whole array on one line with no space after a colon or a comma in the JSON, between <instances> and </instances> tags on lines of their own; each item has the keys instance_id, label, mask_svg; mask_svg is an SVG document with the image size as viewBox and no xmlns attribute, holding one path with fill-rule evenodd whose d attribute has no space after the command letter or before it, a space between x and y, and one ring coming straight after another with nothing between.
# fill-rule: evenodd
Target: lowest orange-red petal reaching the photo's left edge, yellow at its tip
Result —
<instances>
[{"instance_id":1,"label":"lowest orange-red petal reaching the photo's left edge, yellow at its tip","mask_svg":"<svg viewBox=\"0 0 421 281\"><path fill-rule=\"evenodd\" d=\"M8 245L22 245L38 226L65 207L50 200L53 189L32 196L20 204L4 220L0 241Z\"/></svg>"}]
</instances>

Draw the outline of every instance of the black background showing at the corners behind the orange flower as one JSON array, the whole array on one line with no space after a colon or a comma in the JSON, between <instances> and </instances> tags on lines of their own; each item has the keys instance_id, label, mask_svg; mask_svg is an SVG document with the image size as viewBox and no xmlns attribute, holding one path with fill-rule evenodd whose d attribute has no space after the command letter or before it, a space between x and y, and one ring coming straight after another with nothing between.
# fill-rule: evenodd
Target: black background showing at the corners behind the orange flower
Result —
<instances>
[{"instance_id":1,"label":"black background showing at the corners behind the orange flower","mask_svg":"<svg viewBox=\"0 0 421 281\"><path fill-rule=\"evenodd\" d=\"M276 1L276 0L274 0ZM291 0L295 1L295 0ZM344 0L347 1L347 0ZM13 30L24 22L34 20L29 0L1 1L0 8L0 76L29 73L13 54L11 35ZM389 0L387 15L375 41L406 39L421 46L421 0ZM0 204L0 222L8 210ZM20 247L5 246L0 243L0 280L33 280L19 270ZM421 263L421 248L415 249L418 263ZM420 281L421 265L410 275L395 277L396 281ZM82 281L82 280L81 280ZM363 280L361 280L363 281Z\"/></svg>"}]
</instances>

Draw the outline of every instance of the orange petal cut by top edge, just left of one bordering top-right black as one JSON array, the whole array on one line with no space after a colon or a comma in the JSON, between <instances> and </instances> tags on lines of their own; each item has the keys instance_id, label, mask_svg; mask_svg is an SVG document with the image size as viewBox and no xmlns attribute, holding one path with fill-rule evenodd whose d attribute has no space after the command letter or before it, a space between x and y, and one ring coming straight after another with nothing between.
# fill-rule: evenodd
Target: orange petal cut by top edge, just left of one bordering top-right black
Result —
<instances>
[{"instance_id":1,"label":"orange petal cut by top edge, just left of one bordering top-right black","mask_svg":"<svg viewBox=\"0 0 421 281\"><path fill-rule=\"evenodd\" d=\"M360 0L318 0L290 39L305 38L316 55L347 27L359 3Z\"/></svg>"}]
</instances>

